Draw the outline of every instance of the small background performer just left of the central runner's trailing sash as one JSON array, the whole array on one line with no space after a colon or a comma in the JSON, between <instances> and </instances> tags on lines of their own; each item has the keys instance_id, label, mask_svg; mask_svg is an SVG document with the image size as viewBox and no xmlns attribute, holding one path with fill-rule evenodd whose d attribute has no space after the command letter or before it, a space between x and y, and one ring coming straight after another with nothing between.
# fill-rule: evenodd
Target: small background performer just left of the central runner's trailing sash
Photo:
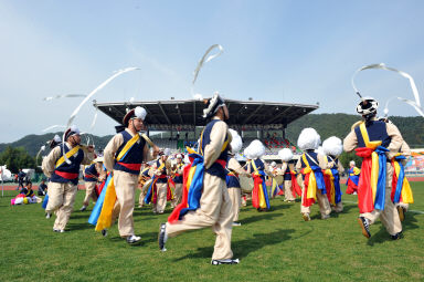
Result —
<instances>
[{"instance_id":1,"label":"small background performer just left of the central runner's trailing sash","mask_svg":"<svg viewBox=\"0 0 424 282\"><path fill-rule=\"evenodd\" d=\"M153 174L156 177L152 184L153 213L161 215L165 212L165 208L167 207L167 198L169 198L168 197L168 189L169 189L168 175L170 175L170 166L169 166L168 157L170 154L171 154L171 150L169 148L166 148L163 152L160 152L159 159L156 161L153 166Z\"/></svg>"}]
</instances>

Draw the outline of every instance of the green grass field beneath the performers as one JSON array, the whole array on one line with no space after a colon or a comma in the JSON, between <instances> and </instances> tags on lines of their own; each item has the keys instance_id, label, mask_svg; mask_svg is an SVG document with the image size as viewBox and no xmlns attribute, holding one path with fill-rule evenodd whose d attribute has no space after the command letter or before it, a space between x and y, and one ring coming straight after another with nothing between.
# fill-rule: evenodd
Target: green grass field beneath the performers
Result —
<instances>
[{"instance_id":1,"label":"green grass field beneath the performers","mask_svg":"<svg viewBox=\"0 0 424 282\"><path fill-rule=\"evenodd\" d=\"M343 186L344 188L344 186ZM424 182L412 182L415 203L424 211ZM233 229L232 248L239 265L210 264L211 229L183 233L160 252L159 223L149 207L136 209L136 232L142 243L128 246L113 227L107 238L87 223L91 210L78 211L78 191L67 232L52 231L41 203L10 206L15 191L0 200L0 281L424 281L424 215L406 213L404 238L392 241L384 227L371 227L367 240L357 222L356 196L343 195L344 211L305 222L299 202L273 199L273 210L245 207L241 227Z\"/></svg>"}]
</instances>

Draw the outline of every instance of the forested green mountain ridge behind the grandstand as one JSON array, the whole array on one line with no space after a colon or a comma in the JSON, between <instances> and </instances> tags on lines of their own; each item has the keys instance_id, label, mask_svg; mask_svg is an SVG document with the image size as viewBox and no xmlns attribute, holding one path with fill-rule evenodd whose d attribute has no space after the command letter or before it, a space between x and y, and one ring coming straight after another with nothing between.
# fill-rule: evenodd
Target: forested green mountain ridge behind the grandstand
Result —
<instances>
[{"instance_id":1,"label":"forested green mountain ridge behind the grandstand","mask_svg":"<svg viewBox=\"0 0 424 282\"><path fill-rule=\"evenodd\" d=\"M390 118L401 130L403 138L412 147L423 147L424 146L424 118L422 117L402 117L393 116ZM338 136L344 138L344 136L350 132L351 126L360 121L358 115L348 115L348 114L309 114L300 117L299 119L293 122L287 126L286 136L293 143L297 143L297 137L305 127L314 127L321 136L321 140L330 136ZM275 132L275 130L269 130ZM199 133L199 132L198 132ZM44 135L26 135L25 137L7 144L0 144L0 153L6 149L7 146L12 147L23 147L25 148L31 156L35 156L40 147L45 144L46 140L51 140L55 134L61 136L61 133L47 133ZM161 134L157 134L155 137L159 137ZM282 136L282 130L277 130L277 135ZM169 133L163 133L163 138L169 138ZM173 135L174 136L174 135ZM183 138L184 134L181 134L180 138ZM245 137L255 137L256 133L246 133ZM199 136L195 136L198 138ZM112 135L107 136L92 136L94 138L94 144L97 148L104 148L108 140L112 138ZM193 133L189 134L190 139L194 139ZM86 143L85 137L82 137L83 144ZM91 142L92 143L92 142Z\"/></svg>"}]
</instances>

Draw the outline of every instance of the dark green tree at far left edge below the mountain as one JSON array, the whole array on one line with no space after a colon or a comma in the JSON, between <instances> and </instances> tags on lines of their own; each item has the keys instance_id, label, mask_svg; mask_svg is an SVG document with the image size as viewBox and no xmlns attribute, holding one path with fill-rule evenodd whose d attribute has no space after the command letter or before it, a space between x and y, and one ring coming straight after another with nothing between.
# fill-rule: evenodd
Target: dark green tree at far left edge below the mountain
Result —
<instances>
[{"instance_id":1,"label":"dark green tree at far left edge below the mountain","mask_svg":"<svg viewBox=\"0 0 424 282\"><path fill-rule=\"evenodd\" d=\"M17 174L20 168L35 168L35 158L22 147L8 146L0 153L0 165L7 165L10 171Z\"/></svg>"}]
</instances>

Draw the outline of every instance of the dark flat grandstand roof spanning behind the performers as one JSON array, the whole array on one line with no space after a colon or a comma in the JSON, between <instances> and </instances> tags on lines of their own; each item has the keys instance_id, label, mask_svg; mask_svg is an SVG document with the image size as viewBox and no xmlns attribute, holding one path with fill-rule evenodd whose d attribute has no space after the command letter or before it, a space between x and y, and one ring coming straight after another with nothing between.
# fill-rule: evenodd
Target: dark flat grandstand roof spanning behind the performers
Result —
<instances>
[{"instance_id":1,"label":"dark flat grandstand roof spanning behind the performers","mask_svg":"<svg viewBox=\"0 0 424 282\"><path fill-rule=\"evenodd\" d=\"M97 103L94 106L119 124L127 108L142 106L147 111L146 123L150 130L191 130L204 126L204 103L197 100L135 101ZM309 114L318 105L288 104L276 102L226 100L230 111L230 127L241 130L283 129L289 123Z\"/></svg>"}]
</instances>

